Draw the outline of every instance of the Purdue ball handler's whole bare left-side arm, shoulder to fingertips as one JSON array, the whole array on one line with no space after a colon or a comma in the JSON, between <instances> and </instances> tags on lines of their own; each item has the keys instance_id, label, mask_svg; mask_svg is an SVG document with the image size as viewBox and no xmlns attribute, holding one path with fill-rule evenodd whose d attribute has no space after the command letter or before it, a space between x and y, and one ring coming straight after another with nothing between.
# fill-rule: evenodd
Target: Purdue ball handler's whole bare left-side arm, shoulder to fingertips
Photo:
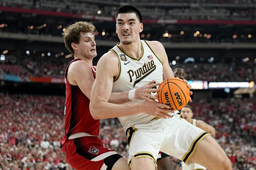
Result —
<instances>
[{"instance_id":1,"label":"Purdue ball handler's whole bare left-side arm, shoulder to fingertips","mask_svg":"<svg viewBox=\"0 0 256 170\"><path fill-rule=\"evenodd\" d=\"M137 113L146 113L162 118L171 117L162 113L169 111L169 107L158 102L145 101L122 105L109 103L113 78L117 74L118 59L110 51L100 58L97 65L97 76L91 89L90 112L94 119L123 117Z\"/></svg>"}]
</instances>

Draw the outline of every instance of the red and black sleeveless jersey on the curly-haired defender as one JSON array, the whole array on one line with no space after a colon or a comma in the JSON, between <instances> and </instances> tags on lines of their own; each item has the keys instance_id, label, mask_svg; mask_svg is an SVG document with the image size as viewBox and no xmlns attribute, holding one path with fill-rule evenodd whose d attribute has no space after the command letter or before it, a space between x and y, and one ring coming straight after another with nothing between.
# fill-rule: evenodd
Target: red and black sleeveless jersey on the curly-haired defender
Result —
<instances>
[{"instance_id":1,"label":"red and black sleeveless jersey on the curly-haired defender","mask_svg":"<svg viewBox=\"0 0 256 170\"><path fill-rule=\"evenodd\" d=\"M65 144L69 136L74 133L85 132L91 135L99 135L99 120L91 116L88 99L78 86L71 85L67 80L67 70L72 62L81 60L75 58L65 71L66 102L65 102L65 137L62 139L62 151L65 152ZM95 79L95 68L91 68ZM91 74L91 73L88 73Z\"/></svg>"}]
</instances>

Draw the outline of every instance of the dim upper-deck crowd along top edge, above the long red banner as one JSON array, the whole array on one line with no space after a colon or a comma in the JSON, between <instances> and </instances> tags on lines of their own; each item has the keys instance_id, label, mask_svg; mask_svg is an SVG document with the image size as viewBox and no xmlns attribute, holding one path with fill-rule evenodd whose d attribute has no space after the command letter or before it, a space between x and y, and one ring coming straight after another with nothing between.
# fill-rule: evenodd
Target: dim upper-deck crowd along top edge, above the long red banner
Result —
<instances>
[{"instance_id":1,"label":"dim upper-deck crowd along top edge, above the long red banner","mask_svg":"<svg viewBox=\"0 0 256 170\"><path fill-rule=\"evenodd\" d=\"M221 6L223 4L247 4L247 7L250 7L249 5L255 5L255 1L252 0L211 0L211 1L195 1L195 0L161 0L158 3L166 3L165 6L156 6L155 1L153 0L144 0L140 1L141 5L137 4L136 1L134 0L123 0L123 3L130 3L130 4L137 4L137 7L139 10L141 10L143 16L147 16L149 18L163 18L166 16L167 13L169 14L174 14L172 10L167 10L166 7L177 7L175 4L179 4L179 8L176 8L177 10L186 10L187 12L190 12L191 14L195 15L195 18L197 19L203 19L201 18L202 15L208 15L209 17L214 16L213 18L205 18L205 19L214 19L215 17L219 19L235 19L234 17L247 17L248 19L254 20L255 19L255 10L254 8L251 8L251 11L247 13L246 10L243 9L236 9L235 11L227 8L227 6ZM120 1L98 1L97 3L91 3L90 1L88 2L80 2L80 1L75 1L73 3L70 3L69 1L46 1L46 0L34 0L34 1L1 1L0 5L5 6L5 7L22 7L26 9L37 9L37 10L50 10L50 11L57 11L57 12L69 12L69 13L81 13L81 14L90 14L90 15L97 15L101 14L103 16L114 16L115 11L117 10L118 6L120 5ZM147 8L143 7L143 3L147 3ZM151 3L151 6L150 6ZM202 5L202 7L207 7L208 12L205 13L203 9L196 8L190 8L190 4L197 4L197 5ZM210 4L217 4L219 6L210 6ZM173 6L172 6L173 5ZM209 9L212 9L213 12L210 13ZM98 11L101 11L98 13ZM147 12L153 12L158 15L150 15ZM222 12L224 11L222 15ZM226 12L225 12L226 11ZM245 14L248 15L245 15ZM197 15L198 14L198 15ZM201 15L201 16L200 16ZM172 16L172 15L171 15ZM176 15L172 19L184 19L186 17L185 14L179 16ZM203 16L205 17L205 16ZM192 19L187 17L187 19ZM215 18L216 19L216 18Z\"/></svg>"}]
</instances>

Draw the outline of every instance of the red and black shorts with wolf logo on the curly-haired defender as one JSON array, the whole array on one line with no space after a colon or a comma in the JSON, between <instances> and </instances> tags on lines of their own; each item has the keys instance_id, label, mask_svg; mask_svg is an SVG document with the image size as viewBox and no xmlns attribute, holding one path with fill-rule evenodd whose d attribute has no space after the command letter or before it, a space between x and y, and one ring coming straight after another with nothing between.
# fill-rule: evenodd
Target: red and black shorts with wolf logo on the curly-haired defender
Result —
<instances>
[{"instance_id":1,"label":"red and black shorts with wolf logo on the curly-haired defender","mask_svg":"<svg viewBox=\"0 0 256 170\"><path fill-rule=\"evenodd\" d=\"M104 148L101 139L95 136L67 140L66 157L71 167L77 170L111 170L122 158L114 150Z\"/></svg>"}]
</instances>

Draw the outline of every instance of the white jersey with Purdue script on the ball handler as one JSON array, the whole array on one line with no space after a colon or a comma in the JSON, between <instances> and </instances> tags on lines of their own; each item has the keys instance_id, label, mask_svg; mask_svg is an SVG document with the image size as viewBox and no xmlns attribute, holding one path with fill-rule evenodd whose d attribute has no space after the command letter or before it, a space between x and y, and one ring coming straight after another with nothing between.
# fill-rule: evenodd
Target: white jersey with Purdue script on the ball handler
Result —
<instances>
[{"instance_id":1,"label":"white jersey with Purdue script on the ball handler","mask_svg":"<svg viewBox=\"0 0 256 170\"><path fill-rule=\"evenodd\" d=\"M119 73L117 77L114 77L113 92L138 89L152 80L157 83L163 81L163 64L145 40L141 40L142 53L139 58L126 54L118 45L119 43L110 49L119 60ZM133 100L127 103L143 101L145 100ZM153 118L154 116L139 113L132 116L119 117L119 121L126 130L133 125L145 124Z\"/></svg>"}]
</instances>

